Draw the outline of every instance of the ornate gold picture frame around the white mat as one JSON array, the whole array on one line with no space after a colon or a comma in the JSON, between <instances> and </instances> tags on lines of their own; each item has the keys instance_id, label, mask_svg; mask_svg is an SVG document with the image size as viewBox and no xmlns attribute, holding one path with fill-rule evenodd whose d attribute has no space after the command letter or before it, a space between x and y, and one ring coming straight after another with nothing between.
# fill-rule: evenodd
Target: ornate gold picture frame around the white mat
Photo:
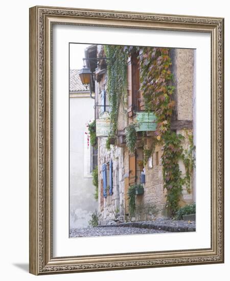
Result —
<instances>
[{"instance_id":1,"label":"ornate gold picture frame around the white mat","mask_svg":"<svg viewBox=\"0 0 230 281\"><path fill-rule=\"evenodd\" d=\"M127 28L211 35L211 247L74 256L53 255L53 26ZM224 262L224 19L58 7L30 8L30 273ZM152 164L151 164L152 165ZM68 186L66 186L66 190ZM66 191L67 192L67 191ZM66 230L68 231L68 230ZM87 238L84 238L87 239Z\"/></svg>"}]
</instances>

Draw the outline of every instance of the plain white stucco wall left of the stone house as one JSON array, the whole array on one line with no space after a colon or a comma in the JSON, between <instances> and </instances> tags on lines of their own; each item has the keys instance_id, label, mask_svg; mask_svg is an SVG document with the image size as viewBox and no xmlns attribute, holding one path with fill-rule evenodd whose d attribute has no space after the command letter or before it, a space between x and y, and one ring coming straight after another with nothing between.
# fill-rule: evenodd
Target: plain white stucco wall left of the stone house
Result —
<instances>
[{"instance_id":1,"label":"plain white stucco wall left of the stone house","mask_svg":"<svg viewBox=\"0 0 230 281\"><path fill-rule=\"evenodd\" d=\"M90 147L85 137L86 123L93 118L93 99L70 98L70 228L87 227L98 208L88 163Z\"/></svg>"}]
</instances>

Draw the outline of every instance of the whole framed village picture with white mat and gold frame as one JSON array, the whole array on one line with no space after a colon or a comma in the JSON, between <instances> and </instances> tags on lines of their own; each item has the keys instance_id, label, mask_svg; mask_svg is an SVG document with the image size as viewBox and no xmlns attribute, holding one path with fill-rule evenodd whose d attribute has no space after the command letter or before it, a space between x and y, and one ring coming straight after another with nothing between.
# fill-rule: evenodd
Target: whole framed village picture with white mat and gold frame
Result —
<instances>
[{"instance_id":1,"label":"whole framed village picture with white mat and gold frame","mask_svg":"<svg viewBox=\"0 0 230 281\"><path fill-rule=\"evenodd\" d=\"M224 262L223 24L30 8L30 273Z\"/></svg>"}]
</instances>

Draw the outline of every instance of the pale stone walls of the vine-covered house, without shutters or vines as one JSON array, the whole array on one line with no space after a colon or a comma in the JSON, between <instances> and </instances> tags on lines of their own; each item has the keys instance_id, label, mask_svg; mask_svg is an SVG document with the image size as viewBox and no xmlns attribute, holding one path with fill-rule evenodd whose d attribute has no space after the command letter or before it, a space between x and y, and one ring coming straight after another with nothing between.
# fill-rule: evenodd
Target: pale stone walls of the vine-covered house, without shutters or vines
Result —
<instances>
[{"instance_id":1,"label":"pale stone walls of the vine-covered house, without shutters or vines","mask_svg":"<svg viewBox=\"0 0 230 281\"><path fill-rule=\"evenodd\" d=\"M171 51L172 57L172 73L175 78L175 116L174 119L181 121L180 124L193 124L193 100L194 99L194 50L173 49ZM100 93L102 89L106 89L106 73L97 84L97 91ZM99 97L100 103L100 97ZM106 101L108 104L108 100ZM128 124L126 103L121 103L119 107L118 116L118 131L124 132ZM100 116L100 112L98 114ZM132 120L133 121L133 120ZM179 128L176 132L182 135L192 133L193 128ZM151 147L151 134L145 138L145 146ZM183 148L188 148L188 139L182 143ZM120 146L120 145L119 145ZM146 182L144 186L144 194L136 196L136 214L134 218L126 217L127 214L127 180L129 177L129 152L125 145L121 147L110 145L110 150L106 149L106 137L98 139L98 169L99 169L99 224L111 224L114 221L124 220L154 220L157 217L167 216L165 212L166 191L164 190L162 154L163 148L156 146L152 152L153 165L152 168L145 165ZM107 197L103 197L103 180L102 180L102 165L113 162L113 193ZM143 169L141 164L143 162L143 145L138 146L136 151L136 183L140 183L140 174ZM143 165L143 164L142 164ZM179 162L182 175L185 175L185 167L182 161ZM108 173L107 173L108 174ZM126 182L126 185L125 185ZM107 178L107 185L109 180ZM193 182L191 182L193 186ZM180 205L193 202L194 189L188 193L186 186L183 186L182 197Z\"/></svg>"}]
</instances>

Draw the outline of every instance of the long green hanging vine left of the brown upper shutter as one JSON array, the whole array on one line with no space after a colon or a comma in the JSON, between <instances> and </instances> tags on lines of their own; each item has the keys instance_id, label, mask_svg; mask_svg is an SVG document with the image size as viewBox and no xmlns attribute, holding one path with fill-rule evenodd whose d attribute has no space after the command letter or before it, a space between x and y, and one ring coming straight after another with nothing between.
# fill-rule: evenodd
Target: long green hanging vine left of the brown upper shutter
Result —
<instances>
[{"instance_id":1,"label":"long green hanging vine left of the brown upper shutter","mask_svg":"<svg viewBox=\"0 0 230 281\"><path fill-rule=\"evenodd\" d=\"M105 45L105 55L109 60L107 69L107 93L110 106L111 133L117 131L119 105L127 95L127 58L124 46Z\"/></svg>"}]
</instances>

